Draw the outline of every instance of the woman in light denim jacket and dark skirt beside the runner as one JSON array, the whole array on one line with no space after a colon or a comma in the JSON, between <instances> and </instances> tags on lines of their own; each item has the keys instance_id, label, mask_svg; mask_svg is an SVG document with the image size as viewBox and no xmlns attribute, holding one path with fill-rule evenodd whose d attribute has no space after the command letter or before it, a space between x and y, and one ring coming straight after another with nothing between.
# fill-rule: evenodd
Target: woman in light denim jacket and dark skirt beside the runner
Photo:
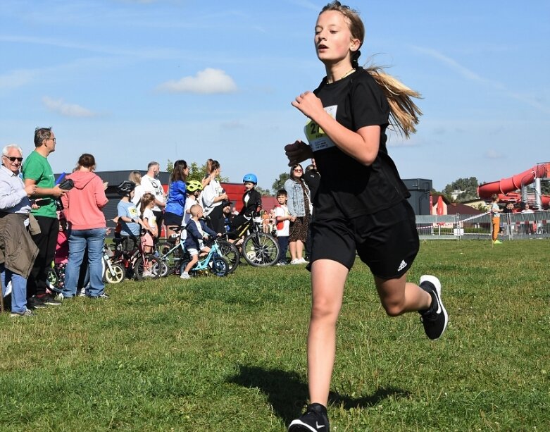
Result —
<instances>
[{"instance_id":1,"label":"woman in light denim jacket and dark skirt beside the runner","mask_svg":"<svg viewBox=\"0 0 550 432\"><path fill-rule=\"evenodd\" d=\"M285 182L287 207L290 213L290 264L307 264L302 257L308 237L309 218L311 216L311 197L304 182L304 168L295 163L290 168L290 178Z\"/></svg>"}]
</instances>

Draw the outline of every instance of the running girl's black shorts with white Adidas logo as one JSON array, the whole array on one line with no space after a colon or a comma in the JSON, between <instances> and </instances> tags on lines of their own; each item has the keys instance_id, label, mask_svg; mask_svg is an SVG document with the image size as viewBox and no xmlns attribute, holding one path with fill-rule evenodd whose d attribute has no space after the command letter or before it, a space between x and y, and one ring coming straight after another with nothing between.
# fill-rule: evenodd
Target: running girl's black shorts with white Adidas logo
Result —
<instances>
[{"instance_id":1,"label":"running girl's black shorts with white Adidas logo","mask_svg":"<svg viewBox=\"0 0 550 432\"><path fill-rule=\"evenodd\" d=\"M403 276L420 246L415 214L406 201L353 219L343 215L329 219L316 213L311 239L311 262L331 259L351 269L357 252L373 275L382 279Z\"/></svg>"}]
</instances>

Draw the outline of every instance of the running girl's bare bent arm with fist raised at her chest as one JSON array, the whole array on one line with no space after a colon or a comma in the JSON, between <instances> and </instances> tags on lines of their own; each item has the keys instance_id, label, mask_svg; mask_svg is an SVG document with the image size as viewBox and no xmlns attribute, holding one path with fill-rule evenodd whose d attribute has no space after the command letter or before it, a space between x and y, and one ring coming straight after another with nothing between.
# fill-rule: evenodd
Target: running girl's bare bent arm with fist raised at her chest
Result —
<instances>
[{"instance_id":1,"label":"running girl's bare bent arm with fist raised at her chest","mask_svg":"<svg viewBox=\"0 0 550 432\"><path fill-rule=\"evenodd\" d=\"M349 130L323 109L323 103L312 92L300 94L292 106L317 123L345 154L367 166L375 161L380 146L379 125L364 126L357 132Z\"/></svg>"}]
</instances>

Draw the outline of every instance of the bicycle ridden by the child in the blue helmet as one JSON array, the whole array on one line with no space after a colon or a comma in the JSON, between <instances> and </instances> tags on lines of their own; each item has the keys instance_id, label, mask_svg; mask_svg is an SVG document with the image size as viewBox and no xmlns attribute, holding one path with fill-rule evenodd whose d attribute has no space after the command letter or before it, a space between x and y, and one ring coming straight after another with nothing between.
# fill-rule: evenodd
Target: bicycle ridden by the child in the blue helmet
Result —
<instances>
[{"instance_id":1,"label":"bicycle ridden by the child in the blue helmet","mask_svg":"<svg viewBox=\"0 0 550 432\"><path fill-rule=\"evenodd\" d=\"M254 267L273 266L279 259L279 244L277 239L268 233L263 233L255 219L260 214L252 212L250 218L237 230L227 233L232 238L242 238L240 255ZM247 234L248 233L248 234Z\"/></svg>"}]
</instances>

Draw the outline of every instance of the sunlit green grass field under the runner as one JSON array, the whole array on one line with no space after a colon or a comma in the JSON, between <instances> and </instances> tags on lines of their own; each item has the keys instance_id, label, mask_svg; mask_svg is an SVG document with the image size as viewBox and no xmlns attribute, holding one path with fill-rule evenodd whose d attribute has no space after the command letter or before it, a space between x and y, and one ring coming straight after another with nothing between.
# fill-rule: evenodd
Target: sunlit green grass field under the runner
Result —
<instances>
[{"instance_id":1,"label":"sunlit green grass field under the runner","mask_svg":"<svg viewBox=\"0 0 550 432\"><path fill-rule=\"evenodd\" d=\"M424 273L450 316L436 342L351 271L332 431L550 430L550 241L423 242ZM285 431L306 404L304 266L107 290L0 317L1 431Z\"/></svg>"}]
</instances>

